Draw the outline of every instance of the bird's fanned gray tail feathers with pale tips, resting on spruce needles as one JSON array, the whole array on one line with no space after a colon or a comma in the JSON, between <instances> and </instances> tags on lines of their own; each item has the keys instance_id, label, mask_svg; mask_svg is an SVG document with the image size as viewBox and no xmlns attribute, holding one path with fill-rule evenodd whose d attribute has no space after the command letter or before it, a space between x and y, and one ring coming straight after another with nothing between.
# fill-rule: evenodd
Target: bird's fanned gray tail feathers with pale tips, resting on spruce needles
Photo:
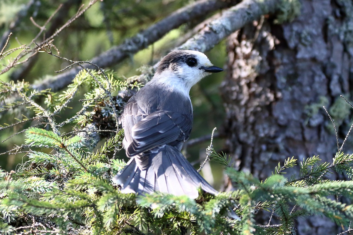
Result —
<instances>
[{"instance_id":1,"label":"bird's fanned gray tail feathers with pale tips, resting on spruce needles","mask_svg":"<svg viewBox=\"0 0 353 235\"><path fill-rule=\"evenodd\" d=\"M151 153L149 161L149 167L140 170L132 158L114 177L114 183L121 185L121 191L125 193L145 194L159 191L197 198L199 187L205 192L217 193L177 147L166 145L157 153Z\"/></svg>"}]
</instances>

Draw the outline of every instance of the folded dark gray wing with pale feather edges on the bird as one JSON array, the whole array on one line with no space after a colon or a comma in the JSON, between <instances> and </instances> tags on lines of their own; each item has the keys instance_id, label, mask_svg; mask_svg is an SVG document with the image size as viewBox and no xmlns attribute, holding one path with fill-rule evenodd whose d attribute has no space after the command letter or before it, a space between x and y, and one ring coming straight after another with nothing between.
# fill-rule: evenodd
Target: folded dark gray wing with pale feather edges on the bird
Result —
<instances>
[{"instance_id":1,"label":"folded dark gray wing with pale feather edges on the bird","mask_svg":"<svg viewBox=\"0 0 353 235\"><path fill-rule=\"evenodd\" d=\"M191 129L192 116L156 111L132 127L132 143L127 147L126 153L134 156L163 144L177 145L189 138Z\"/></svg>"}]
</instances>

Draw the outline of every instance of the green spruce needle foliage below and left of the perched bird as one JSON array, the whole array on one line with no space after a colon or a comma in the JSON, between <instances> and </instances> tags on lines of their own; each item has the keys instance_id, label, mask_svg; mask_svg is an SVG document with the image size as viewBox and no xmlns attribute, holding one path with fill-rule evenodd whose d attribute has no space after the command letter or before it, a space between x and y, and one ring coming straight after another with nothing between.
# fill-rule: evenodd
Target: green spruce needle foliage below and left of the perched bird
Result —
<instances>
[{"instance_id":1,"label":"green spruce needle foliage below and left of the perched bird","mask_svg":"<svg viewBox=\"0 0 353 235\"><path fill-rule=\"evenodd\" d=\"M16 171L0 170L1 234L294 234L295 219L313 214L350 231L353 181L328 177L335 172L352 178L353 154L343 152L332 162L288 157L260 180L234 169L230 156L210 146L209 159L225 168L233 191L200 190L196 200L121 193L112 183L126 164L117 156L124 137L117 122L124 104L119 92L139 87L113 72L86 69L62 92L1 82L1 110L17 119L0 130L16 127L15 135L26 137L2 154L28 157ZM286 173L291 168L297 175ZM229 218L228 209L241 220ZM257 221L259 212L268 213L267 225Z\"/></svg>"}]
</instances>

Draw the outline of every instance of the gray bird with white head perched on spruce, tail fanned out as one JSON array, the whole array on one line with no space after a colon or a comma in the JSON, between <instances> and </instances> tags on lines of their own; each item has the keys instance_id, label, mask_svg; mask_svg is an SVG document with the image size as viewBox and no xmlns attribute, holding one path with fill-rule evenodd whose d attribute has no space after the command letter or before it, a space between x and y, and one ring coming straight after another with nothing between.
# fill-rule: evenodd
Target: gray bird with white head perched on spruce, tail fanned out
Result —
<instances>
[{"instance_id":1,"label":"gray bird with white head perched on spruce, tail fanned out","mask_svg":"<svg viewBox=\"0 0 353 235\"><path fill-rule=\"evenodd\" d=\"M199 51L173 51L162 59L152 80L130 98L120 122L131 159L113 179L122 192L159 191L197 198L201 187L217 193L180 150L192 128L190 88L221 71Z\"/></svg>"}]
</instances>

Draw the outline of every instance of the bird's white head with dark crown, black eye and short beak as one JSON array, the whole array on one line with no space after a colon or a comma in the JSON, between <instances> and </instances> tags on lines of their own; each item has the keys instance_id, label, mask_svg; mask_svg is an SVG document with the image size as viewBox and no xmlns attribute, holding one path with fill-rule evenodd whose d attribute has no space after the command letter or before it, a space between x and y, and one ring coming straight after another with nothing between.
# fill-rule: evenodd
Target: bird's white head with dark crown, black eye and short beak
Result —
<instances>
[{"instance_id":1,"label":"bird's white head with dark crown, black eye and short beak","mask_svg":"<svg viewBox=\"0 0 353 235\"><path fill-rule=\"evenodd\" d=\"M223 69L214 66L205 54L199 51L179 50L170 52L158 64L154 79L170 86L190 88L205 76Z\"/></svg>"}]
</instances>

